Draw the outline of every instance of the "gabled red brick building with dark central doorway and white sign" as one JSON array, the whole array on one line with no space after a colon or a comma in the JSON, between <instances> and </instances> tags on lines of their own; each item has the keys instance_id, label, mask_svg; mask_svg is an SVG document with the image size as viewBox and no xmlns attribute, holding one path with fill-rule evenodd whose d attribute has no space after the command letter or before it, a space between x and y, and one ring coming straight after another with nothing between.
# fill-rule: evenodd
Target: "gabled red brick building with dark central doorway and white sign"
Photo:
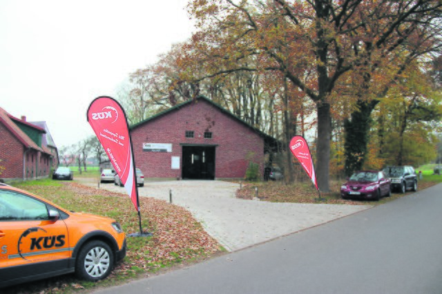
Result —
<instances>
[{"instance_id":1,"label":"gabled red brick building with dark central doorway and white sign","mask_svg":"<svg viewBox=\"0 0 442 294\"><path fill-rule=\"evenodd\" d=\"M264 169L275 139L200 96L131 127L135 165L145 178L244 178L249 162Z\"/></svg>"}]
</instances>

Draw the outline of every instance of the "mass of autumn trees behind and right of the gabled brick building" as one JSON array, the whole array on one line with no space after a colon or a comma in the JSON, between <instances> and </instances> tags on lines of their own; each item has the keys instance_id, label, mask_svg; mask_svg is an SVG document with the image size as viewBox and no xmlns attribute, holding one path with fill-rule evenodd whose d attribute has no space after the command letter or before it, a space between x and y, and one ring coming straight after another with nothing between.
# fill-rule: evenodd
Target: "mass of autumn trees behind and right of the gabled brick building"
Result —
<instances>
[{"instance_id":1,"label":"mass of autumn trees behind and right of the gabled brick building","mask_svg":"<svg viewBox=\"0 0 442 294\"><path fill-rule=\"evenodd\" d=\"M328 191L332 171L380 167L388 150L392 158L387 136L401 129L382 121L403 118L391 107L412 99L402 90L413 72L426 85L437 76L427 61L439 60L441 7L438 0L193 0L192 38L133 73L133 94L157 109L204 94L283 146L305 135L316 147L318 185ZM434 90L419 94L419 101L437 99ZM407 115L400 139L436 121L439 110L432 112L414 111L423 115L417 128ZM396 163L410 152L407 162L423 161L406 142ZM289 154L282 161L291 176Z\"/></svg>"}]
</instances>

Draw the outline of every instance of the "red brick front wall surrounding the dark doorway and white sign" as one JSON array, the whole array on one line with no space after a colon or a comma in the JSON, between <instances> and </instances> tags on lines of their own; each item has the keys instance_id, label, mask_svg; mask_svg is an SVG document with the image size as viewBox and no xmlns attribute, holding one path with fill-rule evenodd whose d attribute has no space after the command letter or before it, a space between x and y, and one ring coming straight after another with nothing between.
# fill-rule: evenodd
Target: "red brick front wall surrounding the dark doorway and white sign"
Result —
<instances>
[{"instance_id":1,"label":"red brick front wall surrounding the dark doorway and white sign","mask_svg":"<svg viewBox=\"0 0 442 294\"><path fill-rule=\"evenodd\" d=\"M194 138L186 138L186 131L193 131ZM205 139L204 132L212 132L212 138ZM181 177L180 144L218 145L215 147L215 178L244 178L249 160L258 163L260 171L264 165L264 139L202 100L140 125L132 130L131 138L135 165L146 178ZM142 149L143 143L171 143L172 152L146 152ZM172 156L180 156L180 169L171 169Z\"/></svg>"}]
</instances>

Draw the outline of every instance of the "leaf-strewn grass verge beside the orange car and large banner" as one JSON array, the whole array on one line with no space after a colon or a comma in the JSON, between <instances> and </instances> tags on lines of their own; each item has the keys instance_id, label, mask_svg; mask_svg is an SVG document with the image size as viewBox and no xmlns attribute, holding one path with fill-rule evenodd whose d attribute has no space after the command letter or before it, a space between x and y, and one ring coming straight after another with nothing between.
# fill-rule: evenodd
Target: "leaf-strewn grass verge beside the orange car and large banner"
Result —
<instances>
[{"instance_id":1,"label":"leaf-strewn grass verge beside the orange car and large banner","mask_svg":"<svg viewBox=\"0 0 442 294\"><path fill-rule=\"evenodd\" d=\"M137 211L126 194L86 187L77 182L62 183L55 187L23 185L21 188L70 211L114 218L122 224L126 235L140 231ZM143 197L140 198L140 212L143 231L153 235L148 238L127 237L126 258L115 266L106 280L94 284L77 280L75 275L63 275L2 289L1 293L79 293L222 253L220 244L186 209L164 200Z\"/></svg>"}]
</instances>

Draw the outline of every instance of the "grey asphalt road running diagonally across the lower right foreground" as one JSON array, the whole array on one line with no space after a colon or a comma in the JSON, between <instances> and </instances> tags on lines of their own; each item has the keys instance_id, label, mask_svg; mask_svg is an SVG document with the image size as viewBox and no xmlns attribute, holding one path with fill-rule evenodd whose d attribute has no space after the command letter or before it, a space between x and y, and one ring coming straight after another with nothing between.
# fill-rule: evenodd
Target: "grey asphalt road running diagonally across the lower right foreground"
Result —
<instances>
[{"instance_id":1,"label":"grey asphalt road running diagonally across the lower right foreground","mask_svg":"<svg viewBox=\"0 0 442 294\"><path fill-rule=\"evenodd\" d=\"M97 293L442 293L442 185Z\"/></svg>"}]
</instances>

